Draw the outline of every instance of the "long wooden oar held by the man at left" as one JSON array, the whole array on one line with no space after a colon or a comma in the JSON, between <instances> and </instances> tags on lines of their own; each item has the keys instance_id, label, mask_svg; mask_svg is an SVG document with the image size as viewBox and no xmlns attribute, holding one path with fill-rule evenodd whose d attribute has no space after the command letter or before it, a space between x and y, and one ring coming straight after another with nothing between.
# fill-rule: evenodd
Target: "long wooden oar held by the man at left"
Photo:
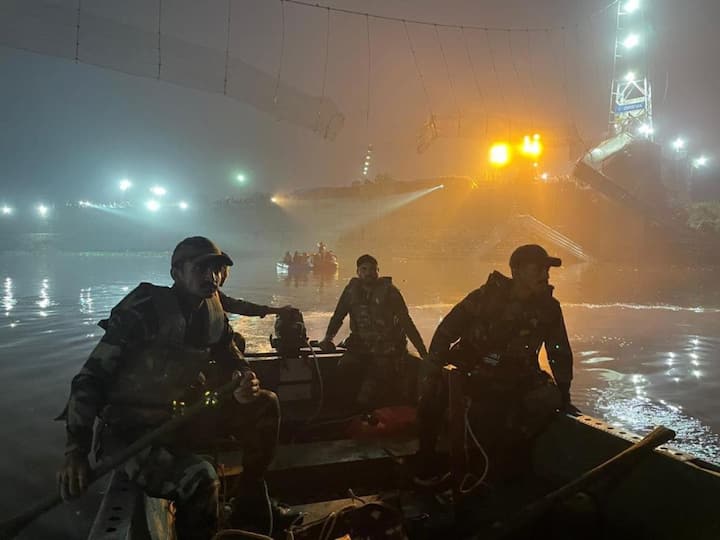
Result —
<instances>
[{"instance_id":1,"label":"long wooden oar held by the man at left","mask_svg":"<svg viewBox=\"0 0 720 540\"><path fill-rule=\"evenodd\" d=\"M168 420L159 428L140 437L127 448L120 450L115 455L110 456L107 459L103 459L98 466L91 471L90 481L88 484L102 478L113 469L119 467L127 460L143 451L148 446L151 446L153 443L162 439L165 435L175 431L180 426L187 424L201 412L206 411L208 408L216 407L220 401L232 395L232 393L240 386L242 380L243 377L238 377L226 385L221 386L215 392L206 392L203 399L184 409L180 416L176 416L171 420ZM30 523L61 502L62 498L58 493L48 495L46 498L28 508L22 514L1 522L0 540L12 540Z\"/></svg>"}]
</instances>

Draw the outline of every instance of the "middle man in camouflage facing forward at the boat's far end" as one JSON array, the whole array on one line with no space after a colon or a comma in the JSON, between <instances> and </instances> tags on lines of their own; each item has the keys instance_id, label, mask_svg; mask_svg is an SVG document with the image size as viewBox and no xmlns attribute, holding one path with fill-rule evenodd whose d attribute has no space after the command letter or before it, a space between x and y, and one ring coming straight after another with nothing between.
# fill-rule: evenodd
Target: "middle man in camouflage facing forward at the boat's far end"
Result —
<instances>
[{"instance_id":1,"label":"middle man in camouflage facing forward at the boat's far end","mask_svg":"<svg viewBox=\"0 0 720 540\"><path fill-rule=\"evenodd\" d=\"M335 312L320 347L334 350L333 338L350 315L350 336L345 340L347 352L340 360L341 373L348 379L361 380L355 396L356 405L367 411L378 397L388 395L393 384L404 384L400 390L415 398L417 362L407 352L407 340L422 358L427 350L420 332L410 318L402 294L389 277L379 277L378 262L371 255L357 260L357 277L352 278L338 300Z\"/></svg>"}]
</instances>

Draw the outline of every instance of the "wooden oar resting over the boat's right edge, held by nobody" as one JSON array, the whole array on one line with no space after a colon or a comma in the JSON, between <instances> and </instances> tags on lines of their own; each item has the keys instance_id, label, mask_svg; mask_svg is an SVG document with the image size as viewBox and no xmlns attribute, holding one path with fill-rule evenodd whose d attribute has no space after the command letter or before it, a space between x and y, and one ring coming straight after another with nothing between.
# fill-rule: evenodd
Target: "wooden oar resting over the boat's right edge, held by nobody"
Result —
<instances>
[{"instance_id":1,"label":"wooden oar resting over the boat's right edge, held by nobody","mask_svg":"<svg viewBox=\"0 0 720 540\"><path fill-rule=\"evenodd\" d=\"M548 493L537 501L528 504L511 518L503 522L495 523L492 527L490 535L482 536L481 538L483 538L483 540L490 538L504 538L505 536L522 529L524 526L542 516L555 504L566 500L578 491L582 491L587 486L604 477L613 476L620 470L632 467L640 459L649 455L654 448L660 446L661 444L665 444L674 437L675 432L673 430L664 426L656 427L630 448L626 448L618 455L610 458L594 469L590 469L572 482L565 484L561 488Z\"/></svg>"}]
</instances>

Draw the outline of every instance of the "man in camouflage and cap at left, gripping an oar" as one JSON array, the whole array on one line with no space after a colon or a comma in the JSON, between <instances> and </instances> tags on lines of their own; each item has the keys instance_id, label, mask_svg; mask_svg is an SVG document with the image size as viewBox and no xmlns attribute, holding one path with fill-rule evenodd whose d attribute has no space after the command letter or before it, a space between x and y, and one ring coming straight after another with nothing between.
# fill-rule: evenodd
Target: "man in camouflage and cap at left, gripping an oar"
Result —
<instances>
[{"instance_id":1,"label":"man in camouflage and cap at left, gripping an oar","mask_svg":"<svg viewBox=\"0 0 720 540\"><path fill-rule=\"evenodd\" d=\"M142 451L124 470L147 494L175 503L179 540L206 540L217 528L219 481L189 441L202 445L232 435L244 450L236 515L241 521L254 515L262 523L242 525L267 531L263 476L277 446L280 408L235 346L218 299L221 267L232 264L207 238L186 238L172 255L172 287L142 283L101 322L106 333L73 379L64 414L65 465L58 473L64 499L87 487L96 418L103 450L112 452L166 422L173 404L197 399L205 385L242 376L234 399Z\"/></svg>"}]
</instances>

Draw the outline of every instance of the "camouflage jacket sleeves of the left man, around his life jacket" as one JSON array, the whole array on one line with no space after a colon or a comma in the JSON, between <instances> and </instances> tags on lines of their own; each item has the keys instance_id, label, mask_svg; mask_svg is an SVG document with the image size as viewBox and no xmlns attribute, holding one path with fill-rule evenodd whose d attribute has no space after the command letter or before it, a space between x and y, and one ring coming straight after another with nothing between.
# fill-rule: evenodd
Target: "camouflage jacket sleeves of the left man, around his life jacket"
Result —
<instances>
[{"instance_id":1,"label":"camouflage jacket sleeves of the left man, around his life jacket","mask_svg":"<svg viewBox=\"0 0 720 540\"><path fill-rule=\"evenodd\" d=\"M66 422L66 453L89 452L95 419L109 404L115 383L127 378L134 351L158 341L160 315L153 299L154 289L156 287L149 283L140 284L113 308L109 319L98 323L105 329L105 335L73 378L67 406L60 416ZM173 287L169 291L180 299L177 289ZM249 370L247 361L235 346L232 328L224 314L224 322L221 321L224 330L218 340L208 343L206 303L188 306L179 301L184 317L184 343L188 347L208 350L208 357L216 366L213 375L220 380L229 378L234 370Z\"/></svg>"}]
</instances>

